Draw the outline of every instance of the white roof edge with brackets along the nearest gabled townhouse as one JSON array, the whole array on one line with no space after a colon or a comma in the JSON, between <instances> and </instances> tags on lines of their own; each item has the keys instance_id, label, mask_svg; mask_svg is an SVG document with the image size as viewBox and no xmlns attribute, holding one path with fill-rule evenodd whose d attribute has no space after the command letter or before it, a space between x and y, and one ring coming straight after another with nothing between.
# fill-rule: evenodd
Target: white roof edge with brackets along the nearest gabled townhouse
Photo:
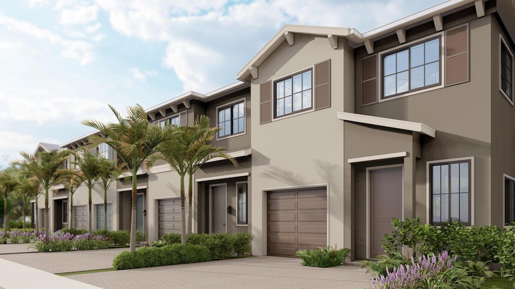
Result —
<instances>
[{"instance_id":1,"label":"white roof edge with brackets along the nearest gabled townhouse","mask_svg":"<svg viewBox=\"0 0 515 289\"><path fill-rule=\"evenodd\" d=\"M449 0L431 8L422 10L403 19L394 21L390 24L372 29L366 33L359 33L354 28L347 27L324 27L324 26L302 26L284 25L273 37L238 71L236 78L240 81L250 82L250 77L258 78L258 66L267 59L285 40L289 45L294 45L294 35L311 34L327 36L333 49L338 47L336 37L345 37L349 40L349 45L356 48L366 45L369 54L373 51L373 41L397 33L405 38L405 29L429 21L435 22L436 30L442 30L442 16L454 12L457 9L476 6L478 17L485 15L485 1L488 0ZM364 15L366 17L366 15ZM401 42L402 43L402 42Z\"/></svg>"}]
</instances>

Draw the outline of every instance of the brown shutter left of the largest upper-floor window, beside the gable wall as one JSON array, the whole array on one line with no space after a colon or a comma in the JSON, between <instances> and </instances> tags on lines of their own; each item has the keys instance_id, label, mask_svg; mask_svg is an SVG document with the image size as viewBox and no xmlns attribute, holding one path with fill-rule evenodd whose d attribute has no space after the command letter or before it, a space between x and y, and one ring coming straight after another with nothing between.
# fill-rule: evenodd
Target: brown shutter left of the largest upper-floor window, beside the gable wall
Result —
<instances>
[{"instance_id":1,"label":"brown shutter left of the largest upper-floor window, beside the gable wall","mask_svg":"<svg viewBox=\"0 0 515 289\"><path fill-rule=\"evenodd\" d=\"M361 60L361 106L377 103L377 55Z\"/></svg>"}]
</instances>

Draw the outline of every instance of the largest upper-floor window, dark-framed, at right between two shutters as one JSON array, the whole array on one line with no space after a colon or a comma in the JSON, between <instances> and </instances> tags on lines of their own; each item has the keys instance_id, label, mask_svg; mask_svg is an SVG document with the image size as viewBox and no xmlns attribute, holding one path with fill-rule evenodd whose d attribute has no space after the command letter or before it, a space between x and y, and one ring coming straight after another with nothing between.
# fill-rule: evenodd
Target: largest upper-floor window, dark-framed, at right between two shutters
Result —
<instances>
[{"instance_id":1,"label":"largest upper-floor window, dark-framed, at right between two shutters","mask_svg":"<svg viewBox=\"0 0 515 289\"><path fill-rule=\"evenodd\" d=\"M440 84L440 38L383 57L383 98Z\"/></svg>"}]
</instances>

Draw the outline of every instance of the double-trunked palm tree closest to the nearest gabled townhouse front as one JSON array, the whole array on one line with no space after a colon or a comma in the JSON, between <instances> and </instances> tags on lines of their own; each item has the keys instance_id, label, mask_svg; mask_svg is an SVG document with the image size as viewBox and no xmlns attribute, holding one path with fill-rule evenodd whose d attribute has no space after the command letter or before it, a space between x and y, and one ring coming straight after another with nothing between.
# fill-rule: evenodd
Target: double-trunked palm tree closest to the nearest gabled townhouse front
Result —
<instances>
[{"instance_id":1,"label":"double-trunked palm tree closest to the nearest gabled townhouse front","mask_svg":"<svg viewBox=\"0 0 515 289\"><path fill-rule=\"evenodd\" d=\"M165 125L165 128L168 124ZM223 147L214 147L207 142L213 139L219 128L211 128L209 117L200 116L192 126L184 126L178 129L177 138L163 142L159 146L159 153L152 154L146 162L147 167L151 167L155 161L162 159L168 163L180 176L181 179L181 243L186 243L186 212L185 212L185 193L184 178L189 175L188 187L188 234L191 233L192 223L192 196L193 196L193 174L204 162L222 157L229 159L235 166L237 162L224 153Z\"/></svg>"}]
</instances>

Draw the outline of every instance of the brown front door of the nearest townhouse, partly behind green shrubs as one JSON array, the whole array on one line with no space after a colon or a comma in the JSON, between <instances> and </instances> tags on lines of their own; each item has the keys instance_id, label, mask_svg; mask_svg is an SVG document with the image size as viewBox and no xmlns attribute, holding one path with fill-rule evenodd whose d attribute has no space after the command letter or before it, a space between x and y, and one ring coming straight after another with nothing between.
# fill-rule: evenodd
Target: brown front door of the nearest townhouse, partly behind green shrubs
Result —
<instances>
[{"instance_id":1,"label":"brown front door of the nearest townhouse, partly behind green shrubs","mask_svg":"<svg viewBox=\"0 0 515 289\"><path fill-rule=\"evenodd\" d=\"M370 256L384 255L381 239L402 219L402 167L370 171Z\"/></svg>"}]
</instances>

